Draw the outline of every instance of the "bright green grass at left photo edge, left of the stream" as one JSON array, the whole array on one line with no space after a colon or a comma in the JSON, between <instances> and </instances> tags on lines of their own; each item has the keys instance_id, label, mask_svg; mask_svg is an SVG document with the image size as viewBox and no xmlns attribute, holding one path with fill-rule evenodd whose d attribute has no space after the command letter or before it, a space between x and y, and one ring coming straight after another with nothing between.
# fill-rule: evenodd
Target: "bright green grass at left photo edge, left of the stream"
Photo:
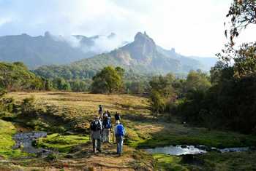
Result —
<instances>
[{"instance_id":1,"label":"bright green grass at left photo edge, left of the stream","mask_svg":"<svg viewBox=\"0 0 256 171\"><path fill-rule=\"evenodd\" d=\"M27 155L19 149L12 149L12 146L15 145L15 140L12 140L12 135L14 135L15 132L15 127L11 122L5 122L0 119L0 156L4 156L4 158L11 158Z\"/></svg>"}]
</instances>

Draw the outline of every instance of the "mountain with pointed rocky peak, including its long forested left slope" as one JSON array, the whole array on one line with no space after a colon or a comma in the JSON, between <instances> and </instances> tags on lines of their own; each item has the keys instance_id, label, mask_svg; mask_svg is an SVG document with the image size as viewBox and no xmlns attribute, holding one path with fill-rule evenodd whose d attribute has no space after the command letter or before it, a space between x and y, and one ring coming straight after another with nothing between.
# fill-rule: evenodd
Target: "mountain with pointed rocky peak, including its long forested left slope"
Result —
<instances>
[{"instance_id":1,"label":"mountain with pointed rocky peak, including its long forested left slope","mask_svg":"<svg viewBox=\"0 0 256 171\"><path fill-rule=\"evenodd\" d=\"M207 61L206 61L207 62ZM94 57L78 60L69 65L39 67L35 72L47 78L86 79L105 66L120 66L126 71L145 74L188 73L190 70L209 70L204 63L176 53L175 49L159 47L146 32L138 32L134 41Z\"/></svg>"}]
</instances>

